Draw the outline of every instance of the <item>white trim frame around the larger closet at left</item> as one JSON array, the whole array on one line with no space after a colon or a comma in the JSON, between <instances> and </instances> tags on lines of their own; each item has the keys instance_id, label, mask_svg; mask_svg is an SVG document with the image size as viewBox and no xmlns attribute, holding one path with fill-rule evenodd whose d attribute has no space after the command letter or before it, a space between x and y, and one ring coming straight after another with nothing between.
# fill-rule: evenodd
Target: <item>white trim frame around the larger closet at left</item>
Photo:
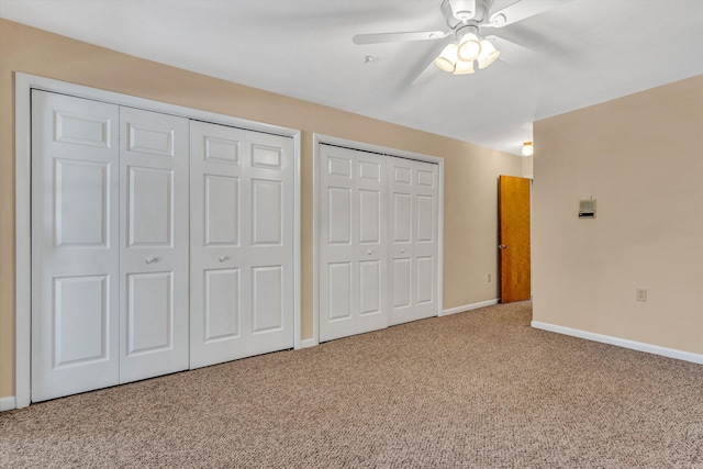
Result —
<instances>
[{"instance_id":1,"label":"white trim frame around the larger closet at left","mask_svg":"<svg viewBox=\"0 0 703 469\"><path fill-rule=\"evenodd\" d=\"M15 375L14 407L26 407L31 402L31 338L32 338L32 237L31 237L31 90L71 94L120 105L129 105L215 124L231 125L257 132L293 138L293 336L294 347L301 348L300 337L300 143L301 132L278 125L264 124L208 111L168 104L129 94L104 91L81 85L14 74L14 132L15 132Z\"/></svg>"}]
</instances>

